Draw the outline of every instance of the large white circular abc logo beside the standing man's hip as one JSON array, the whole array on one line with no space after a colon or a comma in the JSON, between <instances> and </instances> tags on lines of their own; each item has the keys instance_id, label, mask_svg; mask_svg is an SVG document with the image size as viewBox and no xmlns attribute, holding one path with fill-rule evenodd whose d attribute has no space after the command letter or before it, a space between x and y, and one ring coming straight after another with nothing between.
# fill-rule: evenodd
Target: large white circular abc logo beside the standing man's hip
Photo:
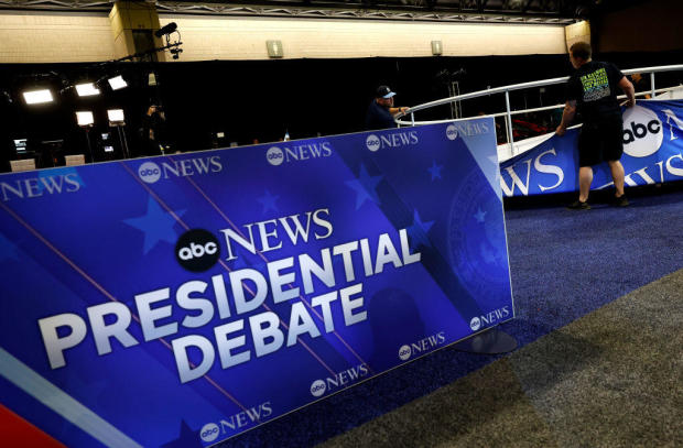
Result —
<instances>
[{"instance_id":1,"label":"large white circular abc logo beside the standing man's hip","mask_svg":"<svg viewBox=\"0 0 683 448\"><path fill-rule=\"evenodd\" d=\"M624 112L624 152L631 157L647 157L659 151L664 133L657 113L640 106Z\"/></svg>"}]
</instances>

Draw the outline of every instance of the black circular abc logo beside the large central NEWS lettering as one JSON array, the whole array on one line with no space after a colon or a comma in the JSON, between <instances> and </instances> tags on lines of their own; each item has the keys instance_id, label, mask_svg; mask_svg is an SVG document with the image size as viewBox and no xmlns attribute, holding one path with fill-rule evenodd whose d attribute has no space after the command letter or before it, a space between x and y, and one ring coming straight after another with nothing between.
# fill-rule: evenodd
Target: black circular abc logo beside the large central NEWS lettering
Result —
<instances>
[{"instance_id":1,"label":"black circular abc logo beside the large central NEWS lettering","mask_svg":"<svg viewBox=\"0 0 683 448\"><path fill-rule=\"evenodd\" d=\"M187 271L204 272L219 258L218 239L204 229L189 230L175 243L175 259Z\"/></svg>"}]
</instances>

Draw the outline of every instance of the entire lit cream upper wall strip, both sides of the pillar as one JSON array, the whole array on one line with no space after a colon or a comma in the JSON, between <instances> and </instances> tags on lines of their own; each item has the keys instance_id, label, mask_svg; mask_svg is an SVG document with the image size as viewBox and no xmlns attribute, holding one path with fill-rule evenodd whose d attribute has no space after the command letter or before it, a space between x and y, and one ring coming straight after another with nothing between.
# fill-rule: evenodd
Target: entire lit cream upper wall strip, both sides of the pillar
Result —
<instances>
[{"instance_id":1,"label":"entire lit cream upper wall strip, both sides of the pillar","mask_svg":"<svg viewBox=\"0 0 683 448\"><path fill-rule=\"evenodd\" d=\"M380 20L228 18L161 14L182 33L180 61L264 59L265 41L282 41L285 58L432 56L431 41L444 56L561 54L563 26ZM107 13L0 12L0 63L112 59Z\"/></svg>"}]
</instances>

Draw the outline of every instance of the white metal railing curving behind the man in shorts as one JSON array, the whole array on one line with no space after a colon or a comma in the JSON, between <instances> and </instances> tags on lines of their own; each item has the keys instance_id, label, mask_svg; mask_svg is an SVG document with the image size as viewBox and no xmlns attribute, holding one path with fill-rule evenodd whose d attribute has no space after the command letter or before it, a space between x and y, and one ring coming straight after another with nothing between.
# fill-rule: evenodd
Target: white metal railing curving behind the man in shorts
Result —
<instances>
[{"instance_id":1,"label":"white metal railing curving behind the man in shorts","mask_svg":"<svg viewBox=\"0 0 683 448\"><path fill-rule=\"evenodd\" d=\"M657 89L655 85L654 85L654 74L655 73L664 73L664 72L679 72L679 70L683 70L683 65L663 65L663 66L657 66L657 67L643 67L643 68L629 68L626 70L621 70L621 73L624 73L625 75L633 75L633 74L650 74L650 89L648 91L640 91L637 92L636 96L637 97L641 97L641 96L646 96L646 95L650 95L652 98L654 98L654 96L657 94L661 94L661 92L665 92L665 91L671 91L671 90L677 90L677 89L683 89L683 86L673 86L673 87L666 87L666 88L661 88L661 89ZM510 109L510 92L514 91L514 90L523 90L523 89L532 89L532 88L538 88L538 87L545 87L545 86L552 86L552 85L556 85L556 84L563 84L566 83L567 79L570 79L568 76L562 77L562 78L552 78L552 79L542 79L542 80L536 80L536 81L531 81L531 83L522 83L522 84L512 84L509 86L502 86L502 87L496 87L492 89L486 89L486 90L479 90L479 91L473 91L470 94L464 94L464 95L457 95L455 97L448 97L448 98L443 98L440 100L435 100L435 101L430 101L430 102L425 102L423 105L418 105L418 106L413 106L411 108L409 108L405 112L402 112L400 114L397 116L395 122L399 125L418 125L418 124L432 124L432 123L444 123L447 121L459 121L459 120L467 120L469 118L463 118L459 120L453 120L453 119L444 119L444 120L432 120L432 121L415 121L415 112L420 111L420 110L425 110L425 109L431 109L433 107L436 106L443 106L443 105L447 105L451 102L458 102L458 101L463 101L466 99L473 99L473 98L479 98L479 97L484 97L484 96L490 96L490 95L497 95L497 94L503 94L505 95L505 99L506 99L506 111L505 112L500 112L500 113L492 113L492 114L488 114L488 116L484 116L484 117L506 117L506 134L507 134L507 139L508 139L508 144L510 145L510 151L513 153L514 152L514 138L512 135L512 116L514 114L520 114L520 113L529 113L529 112L538 112L538 111L543 111L543 110L553 110L553 109L559 109L559 108L563 108L564 105L555 105L555 106L545 106L545 107L541 107L541 108L534 108L534 109L524 109L524 110L511 110ZM626 98L626 96L619 96L619 99L621 98ZM402 117L409 116L410 114L410 121L406 120L401 120Z\"/></svg>"}]
</instances>

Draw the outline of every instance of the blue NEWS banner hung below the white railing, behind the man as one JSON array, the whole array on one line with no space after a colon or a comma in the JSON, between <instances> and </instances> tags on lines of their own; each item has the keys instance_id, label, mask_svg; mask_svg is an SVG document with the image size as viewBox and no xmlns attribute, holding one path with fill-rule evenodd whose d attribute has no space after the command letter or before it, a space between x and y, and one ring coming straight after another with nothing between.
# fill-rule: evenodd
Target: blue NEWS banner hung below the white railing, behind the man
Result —
<instances>
[{"instance_id":1,"label":"blue NEWS banner hung below the white railing, behind the man","mask_svg":"<svg viewBox=\"0 0 683 448\"><path fill-rule=\"evenodd\" d=\"M553 135L500 164L503 194L528 196L578 192L578 129ZM683 179L683 101L638 101L624 109L626 185ZM607 164L594 166L593 189L612 185Z\"/></svg>"}]
</instances>

